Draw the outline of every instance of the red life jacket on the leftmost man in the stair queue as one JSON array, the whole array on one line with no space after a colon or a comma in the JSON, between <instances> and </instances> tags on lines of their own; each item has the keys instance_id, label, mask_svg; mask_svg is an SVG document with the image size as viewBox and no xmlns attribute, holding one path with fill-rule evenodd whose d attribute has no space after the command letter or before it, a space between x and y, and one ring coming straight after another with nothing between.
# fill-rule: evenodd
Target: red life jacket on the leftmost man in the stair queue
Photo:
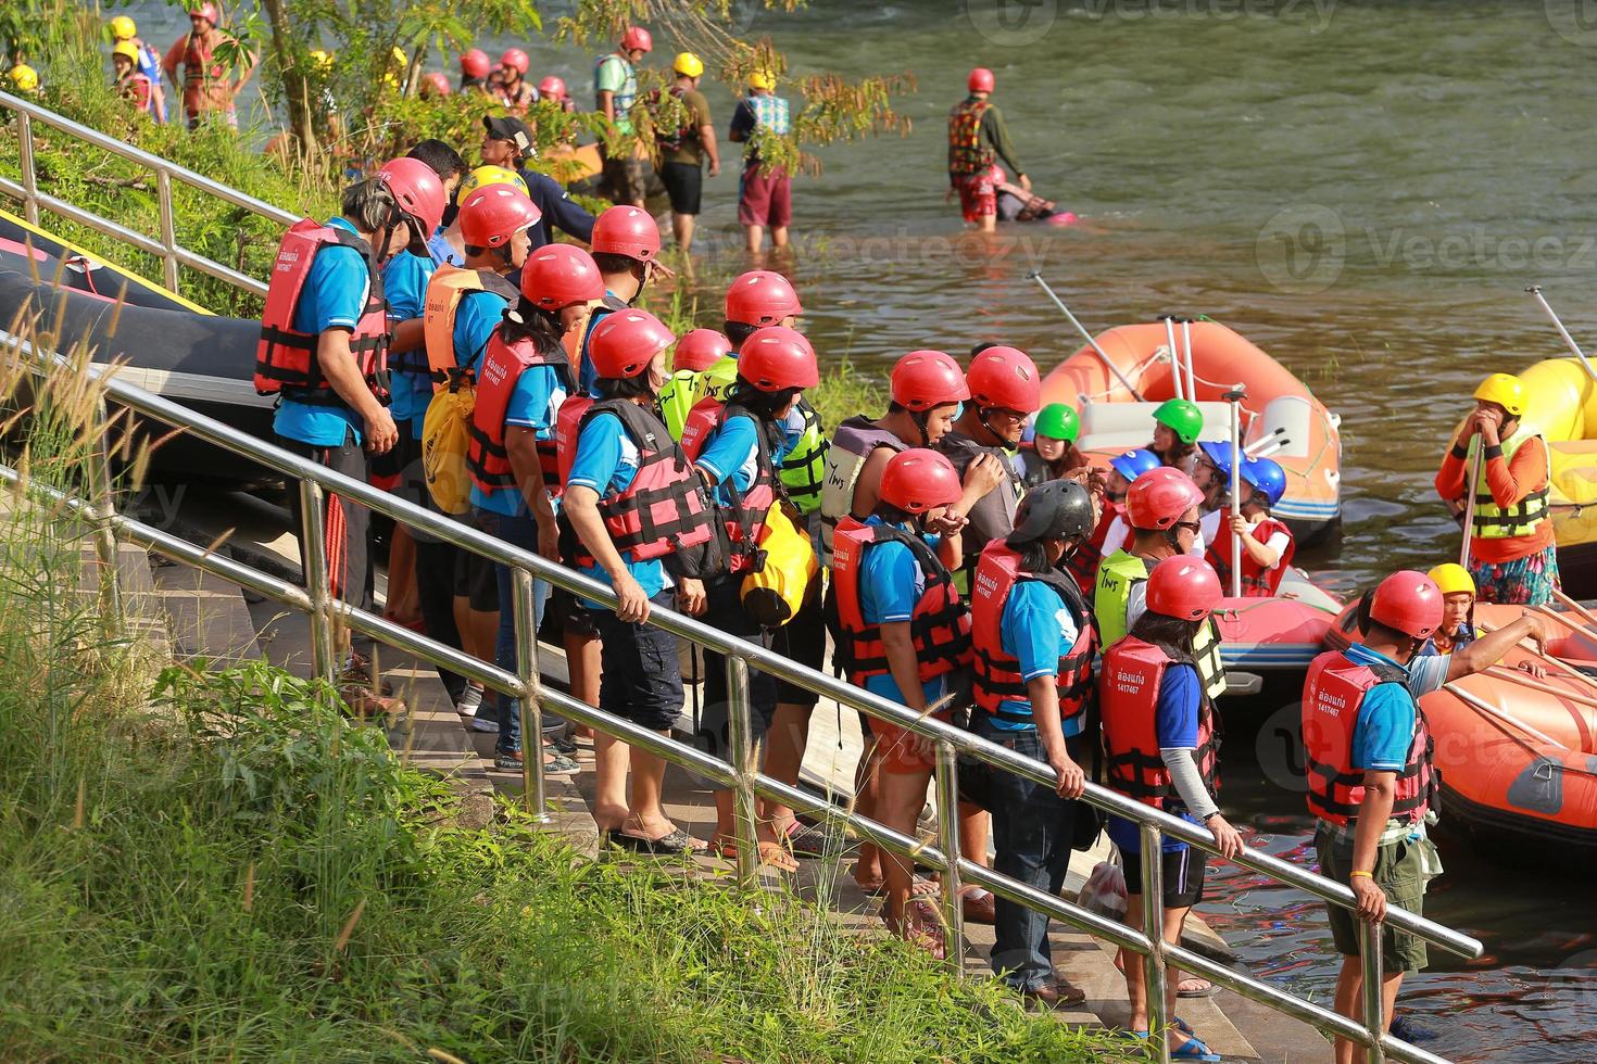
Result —
<instances>
[{"instance_id":1,"label":"red life jacket on the leftmost man in the stair queue","mask_svg":"<svg viewBox=\"0 0 1597 1064\"><path fill-rule=\"evenodd\" d=\"M343 405L316 365L316 343L321 337L294 329L294 311L299 308L311 262L324 247L334 244L353 247L366 258L371 294L350 337L350 351L355 353L361 376L366 378L372 394L386 392L383 376L388 353L388 301L383 300L383 274L377 268L372 249L345 228L316 225L305 219L283 234L278 260L271 268L267 308L260 314L260 341L256 345L256 391L262 396L283 392L295 402Z\"/></svg>"}]
</instances>

